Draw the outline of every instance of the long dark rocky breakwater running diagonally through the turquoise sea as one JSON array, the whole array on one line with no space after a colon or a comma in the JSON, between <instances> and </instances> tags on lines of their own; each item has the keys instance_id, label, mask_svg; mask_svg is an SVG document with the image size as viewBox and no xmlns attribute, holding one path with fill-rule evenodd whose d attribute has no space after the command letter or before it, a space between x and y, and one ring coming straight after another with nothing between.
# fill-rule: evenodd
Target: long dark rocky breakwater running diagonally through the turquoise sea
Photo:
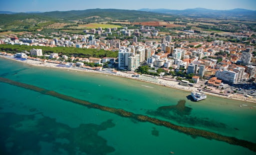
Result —
<instances>
[{"instance_id":1,"label":"long dark rocky breakwater running diagonally through the turquoise sea","mask_svg":"<svg viewBox=\"0 0 256 155\"><path fill-rule=\"evenodd\" d=\"M64 94L59 94L55 91L49 91L49 90L46 90L44 88L39 88L39 87L36 87L36 86L33 86L33 85L20 83L20 82L17 82L17 81L12 81L10 79L6 79L6 78L3 78L3 77L0 77L0 82L4 82L4 83L8 83L8 84L11 84L11 85L14 85L14 86L18 86L18 87L22 87L22 88L29 89L29 90L32 90L32 91L36 91L36 92L39 92L41 94L50 95L50 96L53 96L53 97L56 97L56 98L59 98L59 99L65 100L65 101L69 101L69 102L73 102L73 103L76 103L76 104L84 105L88 108L94 108L94 109L98 109L98 110L102 110L102 111L107 111L107 112L119 115L121 117L134 119L134 120L139 121L139 122L149 122L149 123L152 123L152 124L155 124L155 125L158 125L158 126L164 126L164 127L170 128L172 130L178 131L180 133L190 135L191 137L194 137L194 138L199 136L199 137L203 137L203 138L208 139L208 140L213 139L213 140L217 140L217 141L222 141L222 142L229 143L231 145L241 146L241 147L247 148L247 149L249 149L253 152L256 152L256 144L252 143L252 142L245 141L245 140L239 140L239 139L234 138L234 137L223 136L223 135L220 135L220 134L216 134L216 133L213 133L213 132L208 132L208 131L204 131L204 130L200 130L200 129L177 126L177 125L174 125L174 124L172 124L170 122L167 122L167 121L162 121L162 120L159 120L159 119L156 119L156 118L151 118L151 117L144 116L144 115L134 114L134 113L125 111L123 109L116 109L116 108L101 106L99 104L90 103L88 101L83 101L83 100L80 100L80 99L76 99L76 98L73 98L71 96L67 96L67 95L64 95ZM185 102L185 101L180 100L179 102Z\"/></svg>"}]
</instances>

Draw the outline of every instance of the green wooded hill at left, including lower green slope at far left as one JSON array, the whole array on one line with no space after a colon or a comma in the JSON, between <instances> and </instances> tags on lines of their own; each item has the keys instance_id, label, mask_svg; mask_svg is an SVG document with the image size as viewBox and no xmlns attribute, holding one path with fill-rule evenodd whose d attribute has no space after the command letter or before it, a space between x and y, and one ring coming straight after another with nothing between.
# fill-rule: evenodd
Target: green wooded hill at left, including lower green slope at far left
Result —
<instances>
[{"instance_id":1,"label":"green wooded hill at left, including lower green slope at far left","mask_svg":"<svg viewBox=\"0 0 256 155\"><path fill-rule=\"evenodd\" d=\"M0 14L0 32L3 31L36 31L54 22L111 22L128 21L174 21L176 16L164 13L123 9L86 9L70 11L51 11L42 13Z\"/></svg>"}]
</instances>

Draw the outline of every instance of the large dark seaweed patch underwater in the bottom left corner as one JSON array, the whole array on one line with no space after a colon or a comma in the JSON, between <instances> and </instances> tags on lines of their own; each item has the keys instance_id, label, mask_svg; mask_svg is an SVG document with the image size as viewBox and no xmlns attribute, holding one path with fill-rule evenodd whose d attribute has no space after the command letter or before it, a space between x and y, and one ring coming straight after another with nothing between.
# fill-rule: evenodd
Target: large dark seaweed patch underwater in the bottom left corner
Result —
<instances>
[{"instance_id":1,"label":"large dark seaweed patch underwater in the bottom left corner","mask_svg":"<svg viewBox=\"0 0 256 155\"><path fill-rule=\"evenodd\" d=\"M0 155L106 155L115 151L98 136L99 131L115 126L111 120L70 128L41 113L0 113L0 122Z\"/></svg>"}]
</instances>

